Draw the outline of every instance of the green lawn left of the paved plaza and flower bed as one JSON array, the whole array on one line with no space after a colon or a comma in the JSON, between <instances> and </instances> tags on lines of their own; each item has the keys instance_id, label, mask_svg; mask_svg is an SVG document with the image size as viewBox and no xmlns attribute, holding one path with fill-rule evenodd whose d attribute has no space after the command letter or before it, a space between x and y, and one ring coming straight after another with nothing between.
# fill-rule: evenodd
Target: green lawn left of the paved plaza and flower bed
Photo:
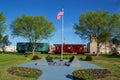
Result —
<instances>
[{"instance_id":1,"label":"green lawn left of the paved plaza and flower bed","mask_svg":"<svg viewBox=\"0 0 120 80\"><path fill-rule=\"evenodd\" d=\"M24 55L0 54L0 80L37 80L35 78L23 78L11 75L7 72L8 68L28 61L30 60L28 60L27 57L24 57Z\"/></svg>"}]
</instances>

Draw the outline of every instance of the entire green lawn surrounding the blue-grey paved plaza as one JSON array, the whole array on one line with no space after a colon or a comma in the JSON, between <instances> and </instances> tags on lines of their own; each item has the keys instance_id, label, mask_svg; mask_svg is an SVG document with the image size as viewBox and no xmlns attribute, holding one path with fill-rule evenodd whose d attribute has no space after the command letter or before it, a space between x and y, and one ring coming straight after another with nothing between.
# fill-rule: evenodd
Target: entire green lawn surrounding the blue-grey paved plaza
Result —
<instances>
[{"instance_id":1,"label":"entire green lawn surrounding the blue-grey paved plaza","mask_svg":"<svg viewBox=\"0 0 120 80\"><path fill-rule=\"evenodd\" d=\"M39 57L48 56L48 54L37 54ZM85 58L84 55L76 55L79 59ZM53 58L60 58L58 54L50 54ZM73 55L64 55L64 58L70 58ZM32 55L20 54L0 54L0 80L37 80L36 78L24 78L18 77L15 75L9 74L6 70L12 66L17 66L19 64L23 64L31 61ZM93 61L91 63L102 66L112 72L112 75L107 79L102 80L120 80L120 57L112 57L112 56L93 56ZM44 72L43 72L44 73Z\"/></svg>"}]
</instances>

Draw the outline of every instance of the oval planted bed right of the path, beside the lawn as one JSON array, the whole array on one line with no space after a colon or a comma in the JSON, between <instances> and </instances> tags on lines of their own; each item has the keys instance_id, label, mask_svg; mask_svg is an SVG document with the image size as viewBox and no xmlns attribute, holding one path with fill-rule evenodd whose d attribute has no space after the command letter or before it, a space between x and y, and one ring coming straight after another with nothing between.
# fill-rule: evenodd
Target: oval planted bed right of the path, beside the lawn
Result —
<instances>
[{"instance_id":1,"label":"oval planted bed right of the path, beside the lawn","mask_svg":"<svg viewBox=\"0 0 120 80\"><path fill-rule=\"evenodd\" d=\"M73 80L94 80L111 74L107 69L82 69L72 72Z\"/></svg>"}]
</instances>

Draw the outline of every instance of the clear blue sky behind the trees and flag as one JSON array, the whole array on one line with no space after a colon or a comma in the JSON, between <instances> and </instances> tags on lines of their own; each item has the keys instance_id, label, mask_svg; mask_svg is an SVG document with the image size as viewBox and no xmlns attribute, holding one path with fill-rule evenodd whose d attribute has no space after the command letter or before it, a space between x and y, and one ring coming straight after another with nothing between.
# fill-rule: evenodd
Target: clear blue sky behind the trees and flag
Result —
<instances>
[{"instance_id":1,"label":"clear blue sky behind the trees and flag","mask_svg":"<svg viewBox=\"0 0 120 80\"><path fill-rule=\"evenodd\" d=\"M22 14L29 16L42 15L47 20L52 21L56 28L53 36L47 42L50 44L61 43L61 20L56 19L56 15L64 7L64 42L66 44L87 44L89 41L81 39L75 34L73 25L79 23L80 14L88 11L109 11L120 13L120 0L0 0L0 12L6 16L7 31L11 45L16 45L17 42L27 42L22 37L12 37L10 24Z\"/></svg>"}]
</instances>

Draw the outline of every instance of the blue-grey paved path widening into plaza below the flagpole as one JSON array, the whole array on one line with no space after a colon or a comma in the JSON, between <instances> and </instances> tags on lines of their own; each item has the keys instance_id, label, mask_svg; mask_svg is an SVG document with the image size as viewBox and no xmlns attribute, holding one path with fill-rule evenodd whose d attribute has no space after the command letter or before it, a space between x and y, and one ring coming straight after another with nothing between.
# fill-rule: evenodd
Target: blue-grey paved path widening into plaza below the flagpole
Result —
<instances>
[{"instance_id":1,"label":"blue-grey paved path widening into plaza below the flagpole","mask_svg":"<svg viewBox=\"0 0 120 80\"><path fill-rule=\"evenodd\" d=\"M39 60L32 61L26 64L21 64L22 67L30 67L42 70L42 75L38 80L72 80L72 72L76 69L88 69L95 68L100 69L97 65L91 64L87 61L80 61L81 67L69 67L69 66L40 66L35 65Z\"/></svg>"}]
</instances>

